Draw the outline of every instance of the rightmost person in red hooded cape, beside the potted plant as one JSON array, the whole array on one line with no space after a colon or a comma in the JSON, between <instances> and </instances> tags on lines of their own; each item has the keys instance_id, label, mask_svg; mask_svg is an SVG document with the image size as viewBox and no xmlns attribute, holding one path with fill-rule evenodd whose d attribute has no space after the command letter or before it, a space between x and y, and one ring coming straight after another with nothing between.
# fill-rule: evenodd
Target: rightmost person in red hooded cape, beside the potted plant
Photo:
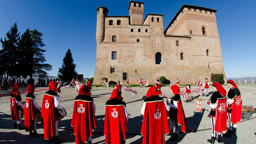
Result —
<instances>
[{"instance_id":1,"label":"rightmost person in red hooded cape, beside the potted plant","mask_svg":"<svg viewBox=\"0 0 256 144\"><path fill-rule=\"evenodd\" d=\"M236 135L237 123L240 122L242 115L242 95L233 80L227 81L228 91L228 130L223 136L230 137L233 132Z\"/></svg>"}]
</instances>

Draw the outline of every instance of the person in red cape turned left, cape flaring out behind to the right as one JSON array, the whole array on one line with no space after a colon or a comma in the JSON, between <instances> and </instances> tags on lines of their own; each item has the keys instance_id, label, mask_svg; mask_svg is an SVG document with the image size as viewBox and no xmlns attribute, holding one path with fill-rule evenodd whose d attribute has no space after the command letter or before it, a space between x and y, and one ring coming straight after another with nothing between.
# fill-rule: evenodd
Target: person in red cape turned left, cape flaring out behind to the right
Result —
<instances>
[{"instance_id":1,"label":"person in red cape turned left, cape flaring out behind to the right","mask_svg":"<svg viewBox=\"0 0 256 144\"><path fill-rule=\"evenodd\" d=\"M177 116L169 116L171 133L173 131L173 126L175 127L174 135L170 139L171 141L173 141L178 139L179 127L182 132L188 133L188 124L180 99L180 87L178 85L173 85L171 86L171 90L173 96L172 98L167 98L167 100L171 102L168 105L171 106L173 109L177 109Z\"/></svg>"}]
</instances>

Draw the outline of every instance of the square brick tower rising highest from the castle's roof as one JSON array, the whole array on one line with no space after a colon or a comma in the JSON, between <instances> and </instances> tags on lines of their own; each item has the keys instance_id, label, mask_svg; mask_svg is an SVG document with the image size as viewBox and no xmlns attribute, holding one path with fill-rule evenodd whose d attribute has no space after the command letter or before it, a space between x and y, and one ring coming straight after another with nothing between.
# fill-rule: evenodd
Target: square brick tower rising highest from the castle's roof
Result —
<instances>
[{"instance_id":1,"label":"square brick tower rising highest from the castle's roof","mask_svg":"<svg viewBox=\"0 0 256 144\"><path fill-rule=\"evenodd\" d=\"M131 25L141 25L143 22L144 3L131 1L129 4L129 16Z\"/></svg>"}]
</instances>

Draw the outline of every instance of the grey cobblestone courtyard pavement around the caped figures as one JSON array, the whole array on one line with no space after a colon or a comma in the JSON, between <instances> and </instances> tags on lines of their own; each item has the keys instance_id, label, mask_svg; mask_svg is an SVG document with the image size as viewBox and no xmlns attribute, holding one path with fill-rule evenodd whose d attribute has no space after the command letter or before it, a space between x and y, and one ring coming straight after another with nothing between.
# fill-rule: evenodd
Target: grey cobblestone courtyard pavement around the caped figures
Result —
<instances>
[{"instance_id":1,"label":"grey cobblestone courtyard pavement around the caped figures","mask_svg":"<svg viewBox=\"0 0 256 144\"><path fill-rule=\"evenodd\" d=\"M224 86L228 91L227 86ZM256 107L256 85L238 85L243 96L243 105L253 105ZM122 92L124 101L127 105L127 111L129 115L128 119L128 131L126 143L140 144L142 143L142 136L140 134L142 117L140 116L140 109L143 103L142 97L146 95L148 87L132 87L136 90L137 96L132 95L128 92ZM195 86L192 86L195 88ZM38 87L38 89L45 89L45 87ZM162 87L162 92L166 96L170 96L170 87ZM105 142L103 135L104 125L104 113L105 113L105 102L109 99L113 87L93 87L92 97L96 104L96 119L97 128L93 134L92 142L95 144L101 144ZM185 90L185 87L181 87L181 90ZM20 91L25 91L25 88L21 88ZM212 88L209 89L209 92ZM45 91L35 92L36 101L39 106L42 105L43 94ZM0 91L0 95L3 91ZM211 92L212 93L212 92ZM66 109L67 116L59 122L59 135L64 140L64 143L74 143L75 136L73 134L73 128L70 126L73 112L73 99L76 97L77 92L75 88L63 88L61 89L60 100L61 105ZM192 94L197 97L198 95ZM25 100L26 94L21 95L22 100ZM209 97L199 96L198 98L208 99ZM189 131L188 134L179 134L177 141L170 141L170 136L165 136L166 143L208 143L207 139L211 138L211 120L208 118L210 112L210 106L206 105L203 101L203 113L197 113L196 100L189 103L182 101L185 115L187 117ZM6 115L7 114L7 115ZM30 137L28 132L25 130L13 129L13 123L10 120L10 98L0 97L0 143L46 143L43 136L39 138ZM253 114L252 117L256 117ZM222 138L221 143L256 143L256 118L244 121L238 124L237 136L232 135L231 138ZM23 125L23 121L22 121ZM37 124L38 133L43 133L42 126ZM22 141L21 141L22 140ZM157 139L156 139L157 141ZM216 143L218 143L216 141Z\"/></svg>"}]
</instances>

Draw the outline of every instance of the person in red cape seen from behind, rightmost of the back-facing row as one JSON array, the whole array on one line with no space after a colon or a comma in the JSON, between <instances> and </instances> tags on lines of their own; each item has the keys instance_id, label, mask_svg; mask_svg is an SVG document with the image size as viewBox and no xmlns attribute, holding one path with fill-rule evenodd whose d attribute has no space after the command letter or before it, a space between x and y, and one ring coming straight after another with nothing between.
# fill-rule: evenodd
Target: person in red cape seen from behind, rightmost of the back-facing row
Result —
<instances>
[{"instance_id":1,"label":"person in red cape seen from behind, rightmost of the back-facing row","mask_svg":"<svg viewBox=\"0 0 256 144\"><path fill-rule=\"evenodd\" d=\"M169 133L169 124L167 119L164 99L159 97L156 86L151 86L146 94L141 108L143 122L141 134L143 135L143 144L164 144L164 135Z\"/></svg>"}]
</instances>

